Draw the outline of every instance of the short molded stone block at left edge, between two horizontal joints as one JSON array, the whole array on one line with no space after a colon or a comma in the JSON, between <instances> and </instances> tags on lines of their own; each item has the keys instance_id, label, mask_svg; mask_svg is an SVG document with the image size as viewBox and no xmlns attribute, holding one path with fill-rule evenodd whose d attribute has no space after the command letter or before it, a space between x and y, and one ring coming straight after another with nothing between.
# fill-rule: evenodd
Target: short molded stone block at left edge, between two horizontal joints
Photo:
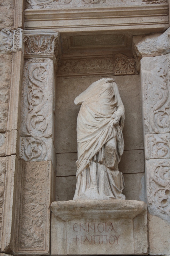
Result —
<instances>
[{"instance_id":1,"label":"short molded stone block at left edge, between two horizontal joints","mask_svg":"<svg viewBox=\"0 0 170 256\"><path fill-rule=\"evenodd\" d=\"M0 156L19 154L19 135L17 130L0 133Z\"/></svg>"}]
</instances>

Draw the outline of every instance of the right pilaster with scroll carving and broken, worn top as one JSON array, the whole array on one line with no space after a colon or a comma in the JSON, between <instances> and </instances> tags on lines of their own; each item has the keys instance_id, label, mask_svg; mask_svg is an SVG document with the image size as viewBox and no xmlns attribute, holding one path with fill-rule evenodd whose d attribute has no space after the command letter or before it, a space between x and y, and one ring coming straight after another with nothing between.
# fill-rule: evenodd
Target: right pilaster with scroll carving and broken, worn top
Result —
<instances>
[{"instance_id":1,"label":"right pilaster with scroll carving and broken, worn top","mask_svg":"<svg viewBox=\"0 0 170 256\"><path fill-rule=\"evenodd\" d=\"M150 254L169 254L170 239L170 40L144 37L135 45L141 59L146 195Z\"/></svg>"}]
</instances>

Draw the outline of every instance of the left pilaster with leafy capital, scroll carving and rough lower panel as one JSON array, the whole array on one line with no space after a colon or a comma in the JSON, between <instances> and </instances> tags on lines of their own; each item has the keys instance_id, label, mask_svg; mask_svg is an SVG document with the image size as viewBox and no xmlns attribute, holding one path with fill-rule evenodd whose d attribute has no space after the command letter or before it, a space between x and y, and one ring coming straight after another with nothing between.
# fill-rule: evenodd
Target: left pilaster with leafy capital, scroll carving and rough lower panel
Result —
<instances>
[{"instance_id":1,"label":"left pilaster with leafy capital, scroll carving and rough lower panel","mask_svg":"<svg viewBox=\"0 0 170 256\"><path fill-rule=\"evenodd\" d=\"M24 31L24 71L17 176L15 253L50 254L55 201L54 110L59 34Z\"/></svg>"}]
</instances>

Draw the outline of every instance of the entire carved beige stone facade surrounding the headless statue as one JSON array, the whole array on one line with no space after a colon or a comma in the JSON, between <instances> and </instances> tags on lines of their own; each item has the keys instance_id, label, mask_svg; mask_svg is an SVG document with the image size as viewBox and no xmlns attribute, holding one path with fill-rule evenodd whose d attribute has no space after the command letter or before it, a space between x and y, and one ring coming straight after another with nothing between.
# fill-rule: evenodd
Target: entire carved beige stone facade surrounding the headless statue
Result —
<instances>
[{"instance_id":1,"label":"entire carved beige stone facade surrounding the headless statue","mask_svg":"<svg viewBox=\"0 0 170 256\"><path fill-rule=\"evenodd\" d=\"M170 255L169 8L0 1L1 256ZM74 99L101 78L125 107L126 200L72 201Z\"/></svg>"}]
</instances>

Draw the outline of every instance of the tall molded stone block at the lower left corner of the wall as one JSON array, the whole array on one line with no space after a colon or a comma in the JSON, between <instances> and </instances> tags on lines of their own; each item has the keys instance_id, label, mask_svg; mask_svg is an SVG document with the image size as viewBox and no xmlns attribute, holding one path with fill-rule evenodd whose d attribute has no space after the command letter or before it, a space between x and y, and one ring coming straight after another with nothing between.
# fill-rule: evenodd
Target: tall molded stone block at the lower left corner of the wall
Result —
<instances>
[{"instance_id":1,"label":"tall molded stone block at the lower left corner of the wall","mask_svg":"<svg viewBox=\"0 0 170 256\"><path fill-rule=\"evenodd\" d=\"M0 157L0 249L7 253L13 251L17 172L16 155Z\"/></svg>"}]
</instances>

